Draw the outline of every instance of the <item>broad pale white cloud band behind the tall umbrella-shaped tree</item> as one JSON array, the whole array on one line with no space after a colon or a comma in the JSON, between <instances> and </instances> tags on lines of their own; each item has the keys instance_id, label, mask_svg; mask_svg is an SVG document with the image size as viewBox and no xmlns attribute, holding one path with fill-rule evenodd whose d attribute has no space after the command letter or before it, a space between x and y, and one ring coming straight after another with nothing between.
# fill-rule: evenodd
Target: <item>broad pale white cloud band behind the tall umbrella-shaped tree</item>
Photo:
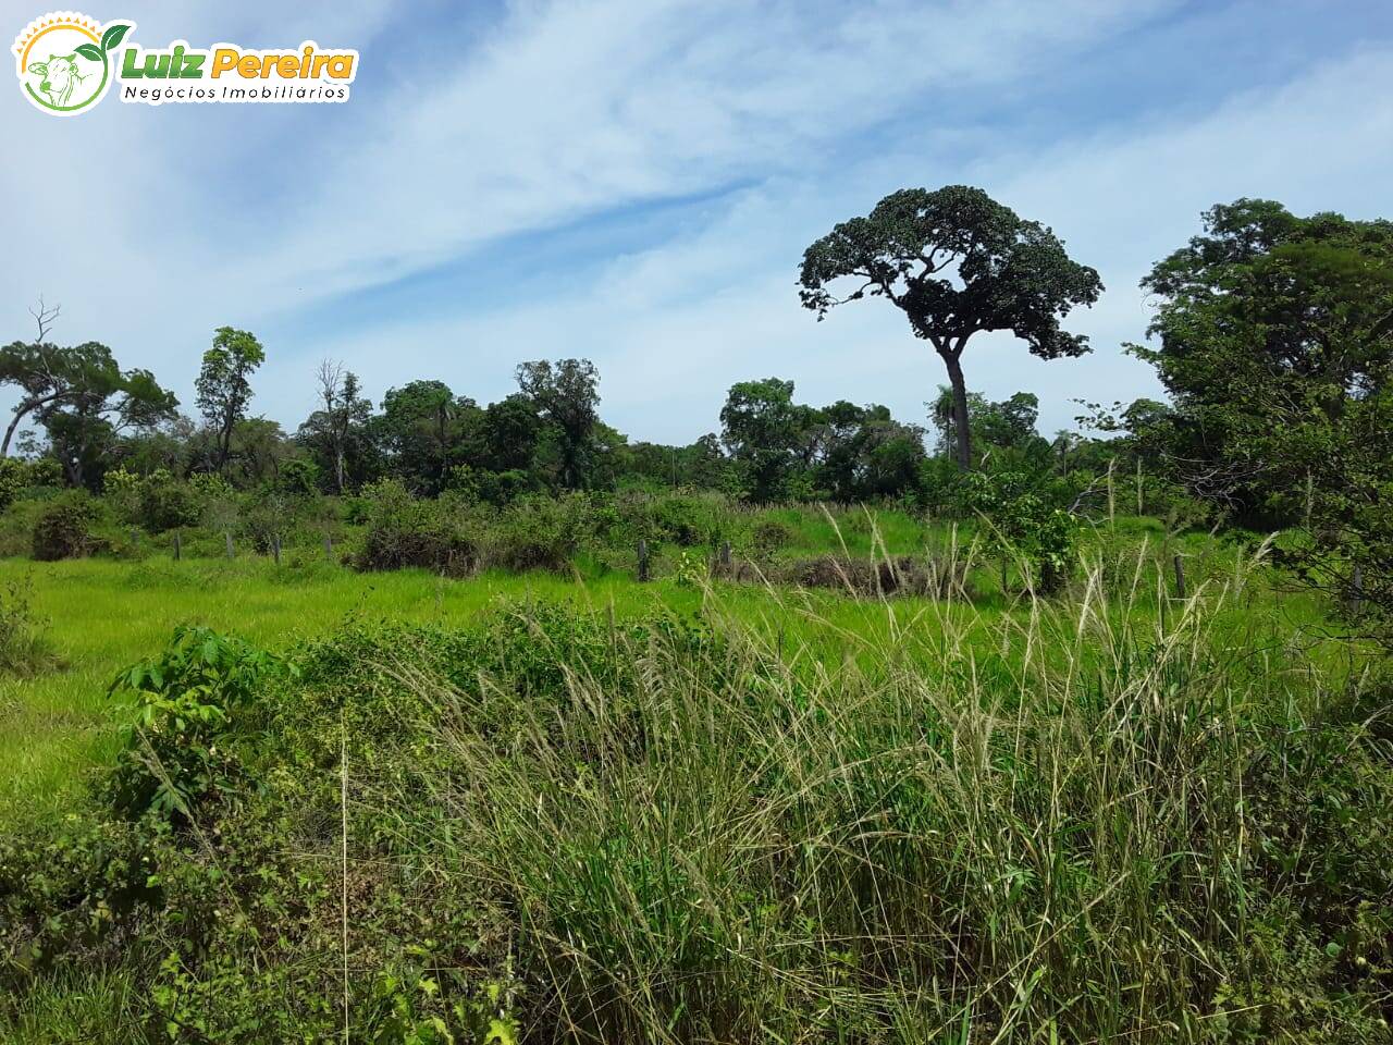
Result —
<instances>
[{"instance_id":1,"label":"broad pale white cloud band behind the tall umbrella-shaped tree","mask_svg":"<svg viewBox=\"0 0 1393 1045\"><path fill-rule=\"evenodd\" d=\"M1036 392L1046 431L1071 426L1073 397L1158 394L1151 369L1120 351L1149 320L1141 276L1199 230L1201 210L1240 195L1273 196L1300 213L1375 215L1393 160L1390 85L1393 52L1369 50L1282 91L1230 99L1192 123L1119 127L1042 155L982 156L944 174L1050 223L1109 287L1094 309L1070 318L1071 329L1091 334L1091 355L1043 362L1009 336L979 336L965 357L970 385L993 398ZM373 353L391 346L394 372L442 375L481 396L504 393L518 358L589 355L605 378L606 417L652 439L709 431L731 382L769 375L794 378L807 401L873 400L922 418L944 375L901 316L869 301L816 323L793 284L812 238L933 166L932 155L903 153L833 184L773 178L738 194L701 230L617 258L568 294L453 320L391 322L345 347L372 372ZM464 358L442 359L439 346L465 346Z\"/></svg>"}]
</instances>

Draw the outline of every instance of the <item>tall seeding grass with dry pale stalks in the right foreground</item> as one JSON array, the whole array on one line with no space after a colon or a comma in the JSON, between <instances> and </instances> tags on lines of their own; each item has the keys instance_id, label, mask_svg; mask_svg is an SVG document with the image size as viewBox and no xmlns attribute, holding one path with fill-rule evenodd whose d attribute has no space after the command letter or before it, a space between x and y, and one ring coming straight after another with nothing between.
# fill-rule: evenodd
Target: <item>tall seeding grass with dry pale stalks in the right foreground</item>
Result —
<instances>
[{"instance_id":1,"label":"tall seeding grass with dry pale stalks in the right foreground","mask_svg":"<svg viewBox=\"0 0 1393 1045\"><path fill-rule=\"evenodd\" d=\"M1307 786L1289 738L1337 701L1280 642L1231 644L1251 564L1184 602L1145 564L1110 591L1095 562L1075 601L986 623L889 602L883 631L823 621L857 648L832 662L712 594L722 641L614 630L632 684L557 649L556 704L391 658L449 752L404 858L508 911L527 1039L1367 1034L1376 1013L1272 989L1298 975L1272 913L1304 900L1262 876L1268 796L1247 791L1259 768Z\"/></svg>"}]
</instances>

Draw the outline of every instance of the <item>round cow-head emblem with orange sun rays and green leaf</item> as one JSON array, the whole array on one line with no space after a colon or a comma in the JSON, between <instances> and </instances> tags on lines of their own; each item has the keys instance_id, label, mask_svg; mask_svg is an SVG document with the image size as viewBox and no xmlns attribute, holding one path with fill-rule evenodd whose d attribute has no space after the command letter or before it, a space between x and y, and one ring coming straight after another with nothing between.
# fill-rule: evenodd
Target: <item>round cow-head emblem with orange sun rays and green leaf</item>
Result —
<instances>
[{"instance_id":1,"label":"round cow-head emblem with orange sun rays and green leaf","mask_svg":"<svg viewBox=\"0 0 1393 1045\"><path fill-rule=\"evenodd\" d=\"M53 116L91 109L114 78L116 47L134 22L99 25L75 11L35 18L14 42L24 96Z\"/></svg>"}]
</instances>

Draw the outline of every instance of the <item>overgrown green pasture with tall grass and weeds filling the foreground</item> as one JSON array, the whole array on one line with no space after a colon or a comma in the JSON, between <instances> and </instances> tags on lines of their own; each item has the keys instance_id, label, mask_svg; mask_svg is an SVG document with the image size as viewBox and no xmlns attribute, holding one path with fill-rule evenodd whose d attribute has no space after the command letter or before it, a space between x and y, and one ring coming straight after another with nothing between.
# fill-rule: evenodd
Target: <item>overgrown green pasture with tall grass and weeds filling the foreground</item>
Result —
<instances>
[{"instance_id":1,"label":"overgrown green pasture with tall grass and weeds filling the foreground","mask_svg":"<svg viewBox=\"0 0 1393 1045\"><path fill-rule=\"evenodd\" d=\"M57 656L0 683L0 1037L1387 1039L1386 681L1261 545L1117 520L1042 599L784 524L964 581L0 560ZM178 626L248 644L227 718L123 732Z\"/></svg>"}]
</instances>

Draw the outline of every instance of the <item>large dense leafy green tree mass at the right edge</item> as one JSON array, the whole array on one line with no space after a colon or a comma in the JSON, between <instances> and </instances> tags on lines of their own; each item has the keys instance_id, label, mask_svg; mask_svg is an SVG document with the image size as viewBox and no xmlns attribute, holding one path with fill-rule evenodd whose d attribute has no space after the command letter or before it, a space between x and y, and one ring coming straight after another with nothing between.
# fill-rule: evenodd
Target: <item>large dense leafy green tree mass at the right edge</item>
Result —
<instances>
[{"instance_id":1,"label":"large dense leafy green tree mass at the right edge","mask_svg":"<svg viewBox=\"0 0 1393 1045\"><path fill-rule=\"evenodd\" d=\"M1393 619L1393 222L1212 208L1142 281L1178 478L1294 524L1297 564ZM1358 567L1358 574L1355 574Z\"/></svg>"}]
</instances>

